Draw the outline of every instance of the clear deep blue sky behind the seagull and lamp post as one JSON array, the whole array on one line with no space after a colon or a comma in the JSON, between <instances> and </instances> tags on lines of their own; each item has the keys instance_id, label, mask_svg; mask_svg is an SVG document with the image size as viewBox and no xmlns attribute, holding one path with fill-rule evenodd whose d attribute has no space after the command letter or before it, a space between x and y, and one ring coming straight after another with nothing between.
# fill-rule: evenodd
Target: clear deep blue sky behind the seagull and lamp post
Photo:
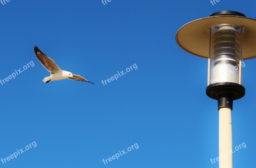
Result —
<instances>
[{"instance_id":1,"label":"clear deep blue sky behind the seagull and lamp post","mask_svg":"<svg viewBox=\"0 0 256 168\"><path fill-rule=\"evenodd\" d=\"M189 21L222 10L256 18L255 1L238 0L0 4L0 79L30 66L0 84L0 158L29 148L0 167L219 167L210 162L219 155L219 114L217 101L205 94L207 60L180 49L175 35ZM35 45L95 85L42 82L49 73ZM244 63L246 95L234 101L232 119L233 146L247 147L234 154L234 167L252 168L256 60ZM103 163L134 144L139 148Z\"/></svg>"}]
</instances>

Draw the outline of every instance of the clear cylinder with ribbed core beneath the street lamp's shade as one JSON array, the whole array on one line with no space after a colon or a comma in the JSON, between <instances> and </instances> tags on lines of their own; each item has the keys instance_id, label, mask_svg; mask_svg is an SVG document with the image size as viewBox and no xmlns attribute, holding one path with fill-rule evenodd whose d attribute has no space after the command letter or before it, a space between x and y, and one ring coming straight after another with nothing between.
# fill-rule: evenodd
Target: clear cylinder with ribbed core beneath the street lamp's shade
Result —
<instances>
[{"instance_id":1,"label":"clear cylinder with ribbed core beneath the street lamp's shade","mask_svg":"<svg viewBox=\"0 0 256 168\"><path fill-rule=\"evenodd\" d=\"M243 29L237 25L221 24L211 28L208 83L242 84L242 36Z\"/></svg>"}]
</instances>

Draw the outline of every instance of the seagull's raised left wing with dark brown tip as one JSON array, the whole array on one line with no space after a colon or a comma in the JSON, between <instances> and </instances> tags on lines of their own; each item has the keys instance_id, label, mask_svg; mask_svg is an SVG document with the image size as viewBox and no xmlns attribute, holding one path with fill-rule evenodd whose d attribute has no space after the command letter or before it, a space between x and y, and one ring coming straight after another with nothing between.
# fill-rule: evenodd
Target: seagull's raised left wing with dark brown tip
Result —
<instances>
[{"instance_id":1,"label":"seagull's raised left wing with dark brown tip","mask_svg":"<svg viewBox=\"0 0 256 168\"><path fill-rule=\"evenodd\" d=\"M34 47L37 59L41 62L44 68L51 74L61 72L60 67L49 57L47 57L37 46Z\"/></svg>"}]
</instances>

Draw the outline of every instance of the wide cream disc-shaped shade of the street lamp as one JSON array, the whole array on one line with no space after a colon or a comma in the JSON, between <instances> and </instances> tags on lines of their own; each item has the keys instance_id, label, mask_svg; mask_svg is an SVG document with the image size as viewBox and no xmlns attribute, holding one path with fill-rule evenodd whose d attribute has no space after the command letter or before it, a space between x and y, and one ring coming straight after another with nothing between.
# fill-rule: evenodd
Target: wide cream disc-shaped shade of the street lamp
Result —
<instances>
[{"instance_id":1,"label":"wide cream disc-shaped shade of the street lamp","mask_svg":"<svg viewBox=\"0 0 256 168\"><path fill-rule=\"evenodd\" d=\"M209 58L209 29L221 24L234 24L243 27L243 60L256 57L256 19L248 18L244 15L211 15L210 17L196 19L178 30L176 42L183 50L192 55Z\"/></svg>"}]
</instances>

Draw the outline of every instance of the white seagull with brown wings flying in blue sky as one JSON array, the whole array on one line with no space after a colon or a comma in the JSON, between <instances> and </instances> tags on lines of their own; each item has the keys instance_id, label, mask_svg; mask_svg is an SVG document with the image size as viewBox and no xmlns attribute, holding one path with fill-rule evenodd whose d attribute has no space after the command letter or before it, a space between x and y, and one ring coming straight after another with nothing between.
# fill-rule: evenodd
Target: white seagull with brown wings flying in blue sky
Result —
<instances>
[{"instance_id":1,"label":"white seagull with brown wings flying in blue sky","mask_svg":"<svg viewBox=\"0 0 256 168\"><path fill-rule=\"evenodd\" d=\"M45 77L43 82L48 83L52 80L62 80L62 79L71 79L76 81L90 82L86 80L84 77L72 74L68 71L63 71L60 67L49 57L47 57L41 50L38 49L37 46L34 47L34 51L37 59L44 66L44 68L50 72L50 76ZM94 84L94 83L92 83Z\"/></svg>"}]
</instances>

